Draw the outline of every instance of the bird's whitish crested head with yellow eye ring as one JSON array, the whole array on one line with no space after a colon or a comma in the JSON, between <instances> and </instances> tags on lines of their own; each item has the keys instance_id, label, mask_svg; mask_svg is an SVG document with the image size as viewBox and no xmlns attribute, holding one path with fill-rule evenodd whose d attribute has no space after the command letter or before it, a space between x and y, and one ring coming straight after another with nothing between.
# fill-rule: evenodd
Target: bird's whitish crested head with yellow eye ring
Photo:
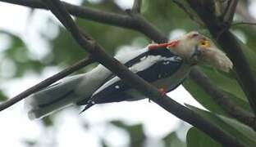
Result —
<instances>
[{"instance_id":1,"label":"bird's whitish crested head with yellow eye ring","mask_svg":"<svg viewBox=\"0 0 256 147\"><path fill-rule=\"evenodd\" d=\"M226 72L233 67L226 54L219 50L209 38L198 32L186 33L175 42L175 46L168 48L190 65L212 65Z\"/></svg>"}]
</instances>

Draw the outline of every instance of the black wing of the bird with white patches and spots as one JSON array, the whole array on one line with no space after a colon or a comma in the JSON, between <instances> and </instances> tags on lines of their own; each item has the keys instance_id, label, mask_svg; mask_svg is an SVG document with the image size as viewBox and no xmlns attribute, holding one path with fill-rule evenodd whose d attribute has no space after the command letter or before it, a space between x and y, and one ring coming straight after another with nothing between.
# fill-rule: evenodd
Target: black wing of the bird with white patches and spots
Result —
<instances>
[{"instance_id":1,"label":"black wing of the bird with white patches and spots","mask_svg":"<svg viewBox=\"0 0 256 147\"><path fill-rule=\"evenodd\" d=\"M161 56L162 59L158 62L149 65L147 69L141 71L133 71L139 77L144 78L147 82L155 82L161 78L168 78L181 67L182 60L179 56L174 55L171 51L166 48L158 48L151 51L146 51L134 59L126 62L126 66L132 70L132 68L142 63L142 59L149 56ZM113 75L112 78L108 79L102 87L95 91L94 95L88 101L85 109L89 109L94 104L119 102L123 100L129 100L132 97L129 96L125 91L131 87L123 82L120 78ZM85 111L85 109L83 111Z\"/></svg>"}]
</instances>

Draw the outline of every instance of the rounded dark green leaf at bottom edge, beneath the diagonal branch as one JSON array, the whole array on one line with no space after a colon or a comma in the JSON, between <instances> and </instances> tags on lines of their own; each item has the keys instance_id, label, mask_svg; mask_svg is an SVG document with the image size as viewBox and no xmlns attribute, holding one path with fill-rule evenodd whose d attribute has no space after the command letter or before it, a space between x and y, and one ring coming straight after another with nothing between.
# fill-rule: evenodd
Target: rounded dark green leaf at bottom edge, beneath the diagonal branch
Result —
<instances>
[{"instance_id":1,"label":"rounded dark green leaf at bottom edge, beneath the diagonal branch","mask_svg":"<svg viewBox=\"0 0 256 147\"><path fill-rule=\"evenodd\" d=\"M191 127L187 132L186 143L188 147L222 147L222 145L207 136L203 131L199 131L196 127Z\"/></svg>"}]
</instances>

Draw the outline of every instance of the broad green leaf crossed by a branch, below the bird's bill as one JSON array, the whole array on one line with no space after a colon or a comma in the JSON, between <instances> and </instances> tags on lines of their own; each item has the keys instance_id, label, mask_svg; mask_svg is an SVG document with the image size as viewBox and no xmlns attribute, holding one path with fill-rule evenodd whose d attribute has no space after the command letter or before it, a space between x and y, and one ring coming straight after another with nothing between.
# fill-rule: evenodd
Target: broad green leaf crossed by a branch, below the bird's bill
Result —
<instances>
[{"instance_id":1,"label":"broad green leaf crossed by a branch, below the bird's bill","mask_svg":"<svg viewBox=\"0 0 256 147\"><path fill-rule=\"evenodd\" d=\"M240 84L236 81L232 73L223 73L210 67L200 67L199 69L202 69L203 73L206 73L208 78L210 78L217 87L226 92L226 95L230 96L236 105L240 105L240 107L251 112L245 93L241 90ZM192 78L187 78L183 86L187 91L190 91L194 99L199 101L206 109L217 114L226 115L223 109L213 100L212 96L205 92L203 88L199 87Z\"/></svg>"}]
</instances>

